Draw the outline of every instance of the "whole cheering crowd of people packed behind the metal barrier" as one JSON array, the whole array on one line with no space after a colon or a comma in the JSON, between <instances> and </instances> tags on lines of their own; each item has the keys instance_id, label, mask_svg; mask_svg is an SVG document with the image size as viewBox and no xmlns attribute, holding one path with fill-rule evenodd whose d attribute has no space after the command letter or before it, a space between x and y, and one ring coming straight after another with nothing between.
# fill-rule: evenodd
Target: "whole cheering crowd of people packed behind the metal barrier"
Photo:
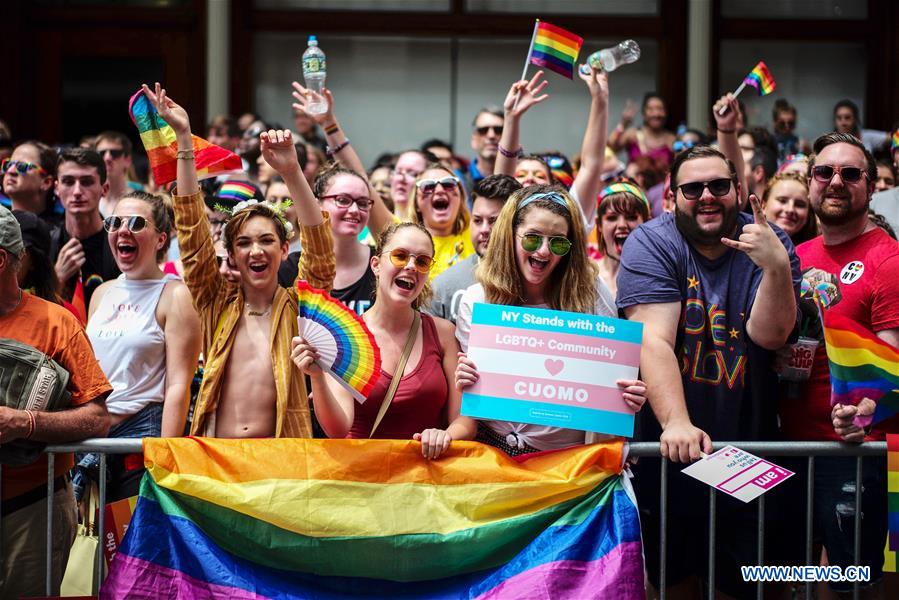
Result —
<instances>
[{"instance_id":1,"label":"whole cheering crowd of people packed behind the metal barrier","mask_svg":"<svg viewBox=\"0 0 899 600\"><path fill-rule=\"evenodd\" d=\"M511 456L592 443L610 436L461 414L463 391L480 377L466 354L473 305L626 318L644 327L642 379L617 383L637 413L636 439L660 443L674 463L668 539L679 547L667 554L669 597L698 597L708 576L708 491L679 471L711 452L712 440L860 442L893 431L889 421L856 424L873 402L830 405L820 311L800 289L803 278L833 283L839 299L828 310L899 347L899 128L862 129L844 100L833 131L809 146L785 100L769 129L747 123L726 95L710 107L708 132L672 132L664 98L648 93L639 127L629 102L610 129L608 75L579 75L588 120L574 157L521 147L525 115L551 105L542 72L475 115L470 159L427 140L366 169L332 92L319 98L298 83L293 131L254 114L196 130L158 83L144 86L176 135L172 185L141 180L140 152L121 132L74 147L0 147L0 202L9 207L0 208L0 337L70 375L65 410L17 409L7 398L0 444L414 439L423 457L439 460L459 440ZM327 111L307 113L313 100ZM12 139L4 128L0 138ZM245 171L200 181L193 134L236 152ZM298 334L299 280L329 291L372 332L382 363L366 402L327 376L319 350ZM797 368L790 357L809 344L813 361ZM56 588L75 498L99 476L96 455L76 458L55 460ZM785 466L804 473L803 463ZM3 597L43 592L46 470L46 458L3 465ZM108 471L111 500L137 493L140 455L112 456ZM653 591L658 460L633 471ZM854 459L816 463L814 560L870 566L865 593L878 597L885 459L865 468L862 507L854 479ZM805 490L795 477L768 494L769 564L805 562ZM718 502L716 587L748 597L755 587L739 567L757 562L756 508Z\"/></svg>"}]
</instances>

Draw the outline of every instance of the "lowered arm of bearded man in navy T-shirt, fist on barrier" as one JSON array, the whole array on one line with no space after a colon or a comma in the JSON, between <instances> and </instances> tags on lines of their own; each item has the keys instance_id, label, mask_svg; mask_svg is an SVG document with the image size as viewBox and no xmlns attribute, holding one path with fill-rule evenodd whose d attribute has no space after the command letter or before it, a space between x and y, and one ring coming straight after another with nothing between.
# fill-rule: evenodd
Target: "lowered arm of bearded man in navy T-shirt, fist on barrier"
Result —
<instances>
[{"instance_id":1,"label":"lowered arm of bearded man in navy T-shirt, fist on barrier","mask_svg":"<svg viewBox=\"0 0 899 600\"><path fill-rule=\"evenodd\" d=\"M624 309L631 321L643 323L640 373L646 382L646 397L662 426L659 444L663 457L674 462L699 458L711 452L712 440L690 421L684 386L674 344L680 320L680 303L637 304Z\"/></svg>"}]
</instances>

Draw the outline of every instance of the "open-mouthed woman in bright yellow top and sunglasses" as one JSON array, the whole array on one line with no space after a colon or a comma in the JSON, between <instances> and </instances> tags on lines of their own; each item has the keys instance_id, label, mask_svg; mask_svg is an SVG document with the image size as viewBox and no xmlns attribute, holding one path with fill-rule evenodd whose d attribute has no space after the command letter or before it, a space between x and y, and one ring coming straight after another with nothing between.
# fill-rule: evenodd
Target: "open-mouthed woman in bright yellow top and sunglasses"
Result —
<instances>
[{"instance_id":1,"label":"open-mouthed woman in bright yellow top and sunglasses","mask_svg":"<svg viewBox=\"0 0 899 600\"><path fill-rule=\"evenodd\" d=\"M431 279L474 254L465 191L446 167L432 163L415 179L409 194L409 220L423 225L434 239Z\"/></svg>"}]
</instances>

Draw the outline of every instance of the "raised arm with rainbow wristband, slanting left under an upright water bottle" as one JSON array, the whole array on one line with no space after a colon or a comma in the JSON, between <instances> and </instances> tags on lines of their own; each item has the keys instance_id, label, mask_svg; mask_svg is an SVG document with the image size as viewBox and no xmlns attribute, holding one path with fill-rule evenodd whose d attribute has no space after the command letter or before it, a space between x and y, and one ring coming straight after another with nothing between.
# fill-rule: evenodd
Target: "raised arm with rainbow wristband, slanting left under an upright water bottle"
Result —
<instances>
[{"instance_id":1,"label":"raised arm with rainbow wristband, slanting left under an upright water bottle","mask_svg":"<svg viewBox=\"0 0 899 600\"><path fill-rule=\"evenodd\" d=\"M293 88L293 97L296 99L296 102L293 103L294 110L305 110L306 103L312 98L317 98L319 96L312 90L304 88L296 81L293 82ZM365 179L366 183L368 183L368 194L372 201L374 201L374 204L372 204L371 210L369 211L368 229L371 231L372 235L377 238L378 235L393 222L393 214L384 205L381 196L371 186L371 182L368 180L368 173L365 170L365 166L362 164L362 160L359 158L359 155L356 154L356 150L353 148L352 144L350 144L350 140L347 138L346 133L344 133L343 127L340 126L340 122L334 114L334 95L331 93L331 90L327 88L324 89L324 99L328 103L328 110L322 114L310 116L325 132L325 137L328 140L328 148L336 150L336 152L332 150L333 158L342 166L357 173L360 177Z\"/></svg>"}]
</instances>

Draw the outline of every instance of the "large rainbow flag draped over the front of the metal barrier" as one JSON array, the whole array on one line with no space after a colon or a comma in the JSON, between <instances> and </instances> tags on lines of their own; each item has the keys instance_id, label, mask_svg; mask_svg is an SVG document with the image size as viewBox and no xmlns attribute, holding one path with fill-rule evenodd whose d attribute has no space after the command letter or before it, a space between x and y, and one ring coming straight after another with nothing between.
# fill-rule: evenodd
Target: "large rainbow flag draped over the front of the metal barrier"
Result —
<instances>
[{"instance_id":1,"label":"large rainbow flag draped over the front of the metal barrier","mask_svg":"<svg viewBox=\"0 0 899 600\"><path fill-rule=\"evenodd\" d=\"M643 598L621 442L145 439L101 598Z\"/></svg>"}]
</instances>

